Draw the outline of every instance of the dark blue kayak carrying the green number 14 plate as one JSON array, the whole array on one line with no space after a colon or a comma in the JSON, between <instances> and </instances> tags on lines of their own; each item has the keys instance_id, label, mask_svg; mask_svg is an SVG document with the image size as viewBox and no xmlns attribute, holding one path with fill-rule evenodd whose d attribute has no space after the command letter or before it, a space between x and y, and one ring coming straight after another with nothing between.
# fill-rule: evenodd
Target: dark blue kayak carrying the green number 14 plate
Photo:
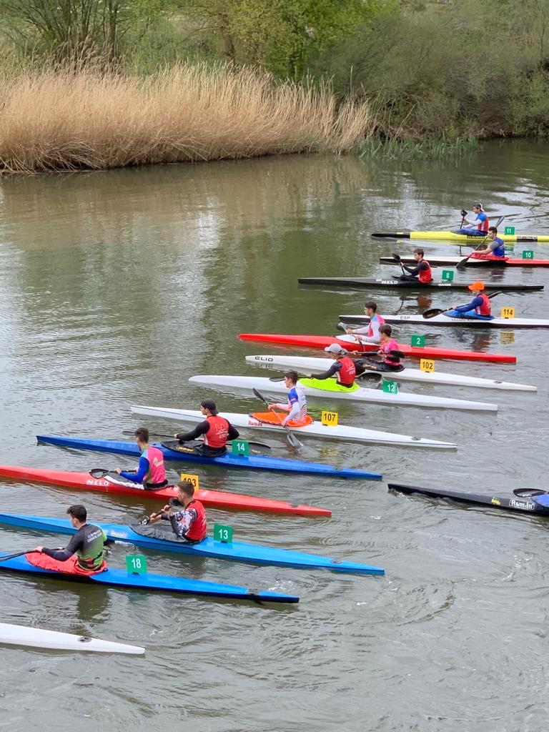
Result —
<instances>
[{"instance_id":1,"label":"dark blue kayak carrying the green number 14 plate","mask_svg":"<svg viewBox=\"0 0 549 732\"><path fill-rule=\"evenodd\" d=\"M37 441L42 444L58 445L59 447L73 447L81 450L95 450L96 452L115 452L117 455L134 455L136 458L141 452L135 442L125 440L89 440L81 437L59 437L56 435L37 435ZM268 455L233 455L227 452L220 458L208 458L195 452L178 452L154 443L154 447L162 450L165 460L183 460L185 463L206 463L221 465L225 468L250 468L252 470L277 470L288 473L309 473L311 475L325 475L331 478L359 478L362 480L381 480L379 473L370 473L365 470L341 468L338 470L331 465L321 463L307 463L304 460L287 460L285 458L271 458Z\"/></svg>"}]
</instances>

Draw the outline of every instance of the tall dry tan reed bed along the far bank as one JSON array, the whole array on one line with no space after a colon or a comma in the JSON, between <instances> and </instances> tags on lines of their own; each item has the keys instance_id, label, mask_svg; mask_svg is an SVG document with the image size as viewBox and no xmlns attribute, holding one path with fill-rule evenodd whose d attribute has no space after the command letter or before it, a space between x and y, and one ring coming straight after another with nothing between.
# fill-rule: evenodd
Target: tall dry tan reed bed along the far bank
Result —
<instances>
[{"instance_id":1,"label":"tall dry tan reed bed along the far bank","mask_svg":"<svg viewBox=\"0 0 549 732\"><path fill-rule=\"evenodd\" d=\"M249 68L26 73L0 81L0 172L343 152L374 125L367 104L337 108L327 88L275 85Z\"/></svg>"}]
</instances>

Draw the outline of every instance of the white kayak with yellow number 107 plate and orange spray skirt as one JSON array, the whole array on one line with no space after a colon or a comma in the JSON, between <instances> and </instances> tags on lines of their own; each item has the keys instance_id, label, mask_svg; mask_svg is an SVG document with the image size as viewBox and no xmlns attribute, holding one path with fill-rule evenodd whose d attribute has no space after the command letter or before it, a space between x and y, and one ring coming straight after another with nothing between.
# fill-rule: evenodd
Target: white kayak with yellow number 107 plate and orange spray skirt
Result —
<instances>
[{"instance_id":1,"label":"white kayak with yellow number 107 plate and orange spray skirt","mask_svg":"<svg viewBox=\"0 0 549 732\"><path fill-rule=\"evenodd\" d=\"M171 409L168 407L147 407L133 405L134 414L146 414L149 417L161 417L173 419L175 422L202 422L203 414L195 409ZM266 423L260 421L253 414L239 414L237 412L220 412L235 427L244 427L251 430L266 430L284 433L280 423ZM377 430L365 430L363 427L348 427L336 425L335 427L323 425L321 422L313 421L305 427L292 427L292 431L299 434L299 437L322 437L332 440L347 440L351 442L370 442L381 445L396 445L398 447L433 447L436 449L458 449L452 442L438 442L424 437L411 437L409 435L397 435L391 432L378 432ZM360 472L360 471L356 471ZM381 479L381 475L368 473L370 480ZM373 477L376 476L376 477Z\"/></svg>"}]
</instances>

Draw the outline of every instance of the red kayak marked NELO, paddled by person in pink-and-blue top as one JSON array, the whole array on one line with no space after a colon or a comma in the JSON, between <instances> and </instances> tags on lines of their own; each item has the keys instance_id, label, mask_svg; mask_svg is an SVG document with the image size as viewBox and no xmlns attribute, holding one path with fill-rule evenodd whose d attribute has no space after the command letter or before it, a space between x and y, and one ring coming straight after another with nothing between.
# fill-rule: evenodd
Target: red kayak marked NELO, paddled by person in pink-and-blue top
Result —
<instances>
[{"instance_id":1,"label":"red kayak marked NELO, paddled by person in pink-and-blue top","mask_svg":"<svg viewBox=\"0 0 549 732\"><path fill-rule=\"evenodd\" d=\"M105 478L92 478L89 473L70 473L61 470L45 470L43 468L19 468L18 466L0 465L0 478L12 478L20 481L58 485L61 488L78 488L80 490L98 490L101 493L115 493L118 496L139 496L153 501L169 501L177 495L174 485L167 485L157 490L143 490L130 485L120 485ZM221 490L199 488L195 497L204 506L220 509L236 509L242 511L267 511L270 513L290 514L298 516L331 516L332 512L324 508L296 505L286 501L272 501L270 498L243 496L241 493L223 493Z\"/></svg>"}]
</instances>

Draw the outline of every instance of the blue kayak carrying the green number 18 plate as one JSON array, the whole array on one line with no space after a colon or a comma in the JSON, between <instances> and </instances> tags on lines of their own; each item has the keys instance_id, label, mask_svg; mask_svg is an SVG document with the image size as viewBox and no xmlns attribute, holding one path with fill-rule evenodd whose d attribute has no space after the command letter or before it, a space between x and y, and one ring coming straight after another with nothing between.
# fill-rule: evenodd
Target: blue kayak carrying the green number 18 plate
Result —
<instances>
[{"instance_id":1,"label":"blue kayak carrying the green number 18 plate","mask_svg":"<svg viewBox=\"0 0 549 732\"><path fill-rule=\"evenodd\" d=\"M48 529L42 524L37 524L35 527L32 521L30 523L18 523L14 518L16 516L16 514L2 514L1 523L10 523L11 526L28 526L31 529L40 529L40 531L55 531L56 534L75 533L75 529L70 526L68 521L64 521L68 526L63 529L53 525L50 525ZM20 518L22 520L27 518L32 519L29 516L20 516ZM39 521L41 520L40 517L38 519ZM125 526L120 528L126 529ZM0 553L0 556L9 555L3 552ZM122 569L111 569L110 567L105 572L100 572L99 575L69 575L64 572L54 572L52 569L34 567L34 564L31 564L25 556L0 561L0 571L4 570L7 572L27 572L31 575L39 575L40 577L71 580L108 587L120 587L122 589L141 589L148 592L177 592L179 594L197 595L201 597L225 597L228 600L255 600L257 602L299 602L299 597L281 594L279 592L258 591L236 585L224 585L219 582L190 580L182 577L168 577L167 575L149 575L148 573L143 575L129 575Z\"/></svg>"}]
</instances>

